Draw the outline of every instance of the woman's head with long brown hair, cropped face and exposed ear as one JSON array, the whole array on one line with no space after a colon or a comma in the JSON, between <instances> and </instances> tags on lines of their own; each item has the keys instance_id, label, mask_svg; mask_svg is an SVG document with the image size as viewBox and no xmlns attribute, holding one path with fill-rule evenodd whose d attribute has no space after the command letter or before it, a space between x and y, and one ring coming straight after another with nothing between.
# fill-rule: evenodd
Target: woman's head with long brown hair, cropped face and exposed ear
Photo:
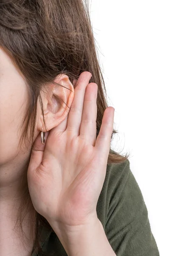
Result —
<instances>
[{"instance_id":1,"label":"woman's head with long brown hair, cropped face and exposed ear","mask_svg":"<svg viewBox=\"0 0 169 256\"><path fill-rule=\"evenodd\" d=\"M24 165L42 125L49 131L68 114L83 71L98 85L98 136L107 101L88 2L2 0L0 8L0 163L16 157L16 165ZM108 163L128 157L111 150ZM29 197L28 189L25 196ZM36 218L37 227L39 220L45 222L38 214ZM38 228L36 232L39 247Z\"/></svg>"}]
</instances>

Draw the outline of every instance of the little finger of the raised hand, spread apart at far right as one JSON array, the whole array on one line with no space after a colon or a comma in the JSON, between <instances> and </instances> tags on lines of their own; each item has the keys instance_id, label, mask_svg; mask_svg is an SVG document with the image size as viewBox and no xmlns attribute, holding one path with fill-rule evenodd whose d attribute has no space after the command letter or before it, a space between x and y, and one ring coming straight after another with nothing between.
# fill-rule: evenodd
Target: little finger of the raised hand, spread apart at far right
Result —
<instances>
[{"instance_id":1,"label":"little finger of the raised hand, spread apart at far right","mask_svg":"<svg viewBox=\"0 0 169 256\"><path fill-rule=\"evenodd\" d=\"M113 107L108 107L104 111L101 128L95 144L99 159L104 159L105 156L108 158L110 140L113 132L114 111L115 109Z\"/></svg>"}]
</instances>

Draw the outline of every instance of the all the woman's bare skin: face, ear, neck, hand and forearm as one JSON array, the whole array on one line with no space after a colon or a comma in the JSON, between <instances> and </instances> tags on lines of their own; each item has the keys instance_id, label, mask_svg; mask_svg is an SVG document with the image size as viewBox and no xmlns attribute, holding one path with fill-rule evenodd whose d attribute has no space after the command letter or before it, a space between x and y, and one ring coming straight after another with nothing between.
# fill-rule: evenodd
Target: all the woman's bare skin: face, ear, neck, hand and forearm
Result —
<instances>
[{"instance_id":1,"label":"all the woman's bare skin: face, ear, neck, hand and forearm","mask_svg":"<svg viewBox=\"0 0 169 256\"><path fill-rule=\"evenodd\" d=\"M0 93L0 102L2 102L0 133L3 135L0 137L0 254L31 256L33 239L28 247L23 248L20 238L14 237L12 233L20 196L23 195L28 181L34 208L51 224L69 256L101 256L104 253L107 256L115 256L96 214L96 203L106 174L114 110L109 107L104 111L101 129L96 140L97 84L89 85L91 73L83 72L79 76L76 93L74 93L73 84L68 76L62 74L56 77L55 81L69 87L72 91L58 88L57 85L48 85L51 93L42 93L45 121L48 127L47 131L43 129L48 140L45 148L44 145L39 144L40 136L38 135L43 119L38 105L34 150L31 152L30 148L25 152L18 151L21 134L18 127L26 111L28 92L24 77L14 61L3 49L0 49L0 55L0 61L2 61L0 62L0 91L2 92ZM57 101L54 102L53 93L61 97L69 107L73 102L69 116L69 108L60 106ZM59 138L63 139L64 143L59 145ZM62 163L62 155L59 157L59 151L56 151L58 148L60 151L65 150ZM70 152L76 157L72 157ZM27 169L26 164L30 155L31 160ZM58 165L56 165L57 161ZM74 186L68 186L73 178ZM96 182L92 183L93 180ZM55 189L57 191L53 193ZM63 202L63 206L59 204L60 201ZM77 211L74 211L74 208ZM62 214L63 212L65 214ZM72 213L72 216L69 216L69 213ZM29 212L24 224L24 231L31 238Z\"/></svg>"}]
</instances>

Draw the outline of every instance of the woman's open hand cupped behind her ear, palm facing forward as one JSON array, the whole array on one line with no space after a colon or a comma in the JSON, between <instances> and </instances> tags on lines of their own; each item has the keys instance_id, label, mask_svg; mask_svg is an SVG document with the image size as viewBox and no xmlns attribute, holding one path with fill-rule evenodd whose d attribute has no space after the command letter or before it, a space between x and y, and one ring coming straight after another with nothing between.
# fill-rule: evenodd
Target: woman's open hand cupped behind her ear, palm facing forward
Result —
<instances>
[{"instance_id":1,"label":"woman's open hand cupped behind her ear, palm facing forward","mask_svg":"<svg viewBox=\"0 0 169 256\"><path fill-rule=\"evenodd\" d=\"M28 188L34 208L49 222L76 226L97 216L114 108L104 111L96 140L97 84L88 84L90 77L89 72L79 76L67 118L45 133L44 145L40 134L33 145Z\"/></svg>"}]
</instances>

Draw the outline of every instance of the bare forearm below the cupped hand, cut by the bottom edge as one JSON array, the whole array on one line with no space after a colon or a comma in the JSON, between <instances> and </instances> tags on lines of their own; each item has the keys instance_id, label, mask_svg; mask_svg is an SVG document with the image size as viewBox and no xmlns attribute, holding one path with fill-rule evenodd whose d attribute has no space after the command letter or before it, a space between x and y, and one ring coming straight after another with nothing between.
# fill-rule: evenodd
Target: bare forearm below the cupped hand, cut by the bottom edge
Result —
<instances>
[{"instance_id":1,"label":"bare forearm below the cupped hand, cut by the bottom edge","mask_svg":"<svg viewBox=\"0 0 169 256\"><path fill-rule=\"evenodd\" d=\"M115 256L99 219L82 227L52 227L68 256Z\"/></svg>"}]
</instances>

